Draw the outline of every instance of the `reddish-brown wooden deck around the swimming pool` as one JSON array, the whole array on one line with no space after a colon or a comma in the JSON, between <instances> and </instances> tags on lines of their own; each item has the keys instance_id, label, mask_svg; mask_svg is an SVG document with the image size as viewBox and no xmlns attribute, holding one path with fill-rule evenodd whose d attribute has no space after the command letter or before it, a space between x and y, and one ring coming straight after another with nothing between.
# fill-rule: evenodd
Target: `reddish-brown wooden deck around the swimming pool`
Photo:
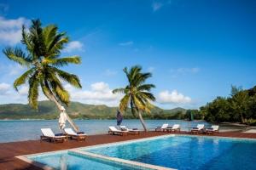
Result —
<instances>
[{"instance_id":1,"label":"reddish-brown wooden deck around the swimming pool","mask_svg":"<svg viewBox=\"0 0 256 170\"><path fill-rule=\"evenodd\" d=\"M182 132L183 133L183 132ZM9 170L9 169L39 169L34 167L25 161L20 161L15 156L34 154L46 151L54 150L66 150L77 147L95 145L95 144L107 144L111 142L125 141L129 139L142 139L153 136L164 135L166 133L160 132L148 132L141 133L140 135L128 135L128 136L116 136L116 135L91 135L84 142L77 142L75 140L69 140L68 142L53 144L49 142L40 143L39 140L28 140L24 142L12 142L12 143L3 143L0 144L0 170ZM216 136L222 137L236 137L236 138L251 138L256 139L256 133L217 133Z\"/></svg>"}]
</instances>

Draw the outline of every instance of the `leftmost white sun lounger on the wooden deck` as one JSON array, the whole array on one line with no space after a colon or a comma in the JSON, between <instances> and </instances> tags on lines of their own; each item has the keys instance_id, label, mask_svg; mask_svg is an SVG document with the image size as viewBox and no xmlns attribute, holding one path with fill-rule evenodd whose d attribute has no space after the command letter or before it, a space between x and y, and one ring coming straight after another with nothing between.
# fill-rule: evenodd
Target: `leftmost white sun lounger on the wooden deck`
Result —
<instances>
[{"instance_id":1,"label":"leftmost white sun lounger on the wooden deck","mask_svg":"<svg viewBox=\"0 0 256 170\"><path fill-rule=\"evenodd\" d=\"M50 128L41 128L43 135L40 136L40 141L49 139L50 142L64 142L67 141L67 136L56 136Z\"/></svg>"}]
</instances>

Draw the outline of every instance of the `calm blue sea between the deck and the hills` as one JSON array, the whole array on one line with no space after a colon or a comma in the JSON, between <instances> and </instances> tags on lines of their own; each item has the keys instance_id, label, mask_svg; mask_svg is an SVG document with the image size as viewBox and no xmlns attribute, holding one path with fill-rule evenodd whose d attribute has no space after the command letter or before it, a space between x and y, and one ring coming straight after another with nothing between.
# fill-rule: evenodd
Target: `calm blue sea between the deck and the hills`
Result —
<instances>
[{"instance_id":1,"label":"calm blue sea between the deck and the hills","mask_svg":"<svg viewBox=\"0 0 256 170\"><path fill-rule=\"evenodd\" d=\"M116 125L116 120L75 120L74 122L79 126L80 131L84 131L87 134L108 133L108 126ZM182 130L188 130L188 127L195 127L199 123L180 120L146 120L145 122L148 129L161 126L163 123L169 123L170 126L178 123L181 125ZM206 126L210 126L207 122L203 123ZM143 129L139 120L124 120L122 125ZM0 143L39 139L40 129L43 127L50 127L54 133L61 133L57 120L0 121Z\"/></svg>"}]
</instances>

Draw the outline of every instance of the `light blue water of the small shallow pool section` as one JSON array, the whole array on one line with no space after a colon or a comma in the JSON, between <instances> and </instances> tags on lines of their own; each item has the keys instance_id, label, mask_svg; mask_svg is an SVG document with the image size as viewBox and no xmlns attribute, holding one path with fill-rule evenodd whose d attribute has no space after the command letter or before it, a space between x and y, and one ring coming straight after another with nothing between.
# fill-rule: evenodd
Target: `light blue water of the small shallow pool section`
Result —
<instances>
[{"instance_id":1,"label":"light blue water of the small shallow pool section","mask_svg":"<svg viewBox=\"0 0 256 170\"><path fill-rule=\"evenodd\" d=\"M44 154L28 156L32 161L38 161L49 167L60 170L131 170L134 167L125 167L109 161L102 161L86 156L77 156L73 153Z\"/></svg>"}]
</instances>

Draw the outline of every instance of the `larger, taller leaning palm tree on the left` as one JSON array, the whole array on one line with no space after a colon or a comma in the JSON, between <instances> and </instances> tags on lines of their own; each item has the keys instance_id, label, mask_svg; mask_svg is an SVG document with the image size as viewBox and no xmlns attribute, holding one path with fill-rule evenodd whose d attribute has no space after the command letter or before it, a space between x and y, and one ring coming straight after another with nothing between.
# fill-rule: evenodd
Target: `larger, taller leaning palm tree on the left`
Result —
<instances>
[{"instance_id":1,"label":"larger, taller leaning palm tree on the left","mask_svg":"<svg viewBox=\"0 0 256 170\"><path fill-rule=\"evenodd\" d=\"M79 56L61 57L61 49L67 42L66 33L59 32L57 26L42 27L40 20L32 20L32 26L28 31L22 26L21 43L25 48L3 49L3 54L9 59L27 68L27 71L15 80L14 88L18 91L20 85L28 82L27 98L32 108L38 109L40 88L49 100L55 102L60 111L61 105L68 105L70 98L62 82L68 82L75 88L82 88L79 77L60 70L61 66L81 63ZM69 116L67 121L74 130L79 130Z\"/></svg>"}]
</instances>

